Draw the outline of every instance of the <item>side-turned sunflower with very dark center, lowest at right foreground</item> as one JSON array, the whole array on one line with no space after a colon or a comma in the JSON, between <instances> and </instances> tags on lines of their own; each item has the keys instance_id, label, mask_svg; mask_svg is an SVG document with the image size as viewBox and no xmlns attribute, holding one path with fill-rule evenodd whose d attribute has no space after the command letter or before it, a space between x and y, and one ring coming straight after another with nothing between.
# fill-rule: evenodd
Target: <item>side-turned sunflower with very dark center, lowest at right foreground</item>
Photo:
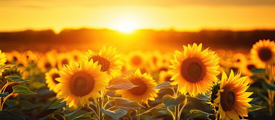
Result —
<instances>
[{"instance_id":1,"label":"side-turned sunflower with very dark center, lowest at right foreground","mask_svg":"<svg viewBox=\"0 0 275 120\"><path fill-rule=\"evenodd\" d=\"M223 72L220 80L220 86L217 97L214 99L214 105L218 107L217 114L221 119L240 119L239 116L247 116L247 108L251 105L247 102L253 92L245 92L249 87L247 76L240 77L240 73L234 75L231 70L229 77Z\"/></svg>"}]
</instances>

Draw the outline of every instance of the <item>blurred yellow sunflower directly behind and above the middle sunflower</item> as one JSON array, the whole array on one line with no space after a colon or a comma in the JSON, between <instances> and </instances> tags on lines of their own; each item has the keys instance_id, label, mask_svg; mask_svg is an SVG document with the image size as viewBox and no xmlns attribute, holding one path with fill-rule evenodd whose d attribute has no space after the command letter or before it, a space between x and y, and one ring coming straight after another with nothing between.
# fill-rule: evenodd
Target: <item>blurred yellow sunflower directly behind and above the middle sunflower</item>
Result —
<instances>
[{"instance_id":1,"label":"blurred yellow sunflower directly behind and above the middle sunflower","mask_svg":"<svg viewBox=\"0 0 275 120\"><path fill-rule=\"evenodd\" d=\"M145 64L147 63L147 57L144 52L137 50L130 52L125 59L125 67L127 70L134 70L137 68L145 69Z\"/></svg>"}]
</instances>

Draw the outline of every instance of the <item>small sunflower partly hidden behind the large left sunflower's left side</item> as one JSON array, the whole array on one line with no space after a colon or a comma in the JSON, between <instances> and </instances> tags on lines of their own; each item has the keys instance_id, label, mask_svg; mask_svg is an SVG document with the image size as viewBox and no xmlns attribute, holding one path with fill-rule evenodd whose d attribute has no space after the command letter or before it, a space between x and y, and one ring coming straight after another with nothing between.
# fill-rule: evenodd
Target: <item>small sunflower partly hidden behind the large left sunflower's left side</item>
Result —
<instances>
[{"instance_id":1,"label":"small sunflower partly hidden behind the large left sunflower's left side","mask_svg":"<svg viewBox=\"0 0 275 120\"><path fill-rule=\"evenodd\" d=\"M50 71L45 73L46 83L50 90L53 90L55 93L58 93L59 90L55 87L59 82L55 79L60 77L58 74L57 68L52 68Z\"/></svg>"}]
</instances>

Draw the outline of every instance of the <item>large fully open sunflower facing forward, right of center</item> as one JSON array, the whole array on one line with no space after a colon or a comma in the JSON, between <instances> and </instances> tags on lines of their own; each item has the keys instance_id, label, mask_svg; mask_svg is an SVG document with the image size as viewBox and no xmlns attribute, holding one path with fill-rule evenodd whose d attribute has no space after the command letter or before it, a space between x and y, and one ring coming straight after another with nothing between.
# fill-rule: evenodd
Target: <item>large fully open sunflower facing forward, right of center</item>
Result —
<instances>
[{"instance_id":1,"label":"large fully open sunflower facing forward, right of center","mask_svg":"<svg viewBox=\"0 0 275 120\"><path fill-rule=\"evenodd\" d=\"M207 49L201 51L202 44L196 43L191 46L183 45L183 51L175 51L174 59L171 59L172 69L168 71L173 74L172 84L178 84L181 93L195 96L198 93L206 93L213 86L214 78L219 74L217 70L219 58L214 51Z\"/></svg>"}]
</instances>

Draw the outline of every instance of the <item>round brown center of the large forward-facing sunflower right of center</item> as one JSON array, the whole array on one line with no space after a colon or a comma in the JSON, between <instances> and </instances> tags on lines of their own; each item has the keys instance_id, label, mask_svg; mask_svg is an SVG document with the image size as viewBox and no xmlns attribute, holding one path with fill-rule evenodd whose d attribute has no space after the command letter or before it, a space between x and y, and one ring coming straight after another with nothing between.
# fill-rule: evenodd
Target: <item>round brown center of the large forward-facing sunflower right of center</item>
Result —
<instances>
[{"instance_id":1,"label":"round brown center of the large forward-facing sunflower right of center","mask_svg":"<svg viewBox=\"0 0 275 120\"><path fill-rule=\"evenodd\" d=\"M186 58L181 64L181 75L187 81L196 83L202 80L206 73L204 63L197 57Z\"/></svg>"}]
</instances>

